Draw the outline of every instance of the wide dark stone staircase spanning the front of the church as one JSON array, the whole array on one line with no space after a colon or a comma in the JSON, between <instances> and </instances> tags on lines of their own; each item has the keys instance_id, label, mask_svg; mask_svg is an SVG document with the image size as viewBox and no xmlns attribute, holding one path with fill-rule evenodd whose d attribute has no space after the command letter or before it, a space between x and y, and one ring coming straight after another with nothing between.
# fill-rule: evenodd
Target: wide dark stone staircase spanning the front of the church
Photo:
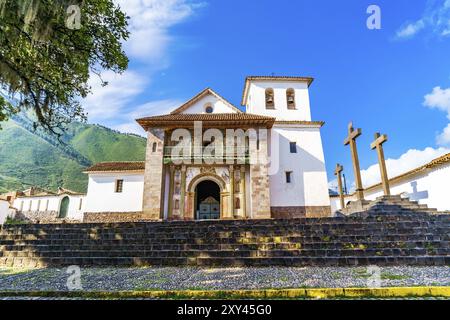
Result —
<instances>
[{"instance_id":1,"label":"wide dark stone staircase spanning the front of the church","mask_svg":"<svg viewBox=\"0 0 450 320\"><path fill-rule=\"evenodd\" d=\"M4 226L0 266L450 265L450 215L380 206L336 218Z\"/></svg>"}]
</instances>

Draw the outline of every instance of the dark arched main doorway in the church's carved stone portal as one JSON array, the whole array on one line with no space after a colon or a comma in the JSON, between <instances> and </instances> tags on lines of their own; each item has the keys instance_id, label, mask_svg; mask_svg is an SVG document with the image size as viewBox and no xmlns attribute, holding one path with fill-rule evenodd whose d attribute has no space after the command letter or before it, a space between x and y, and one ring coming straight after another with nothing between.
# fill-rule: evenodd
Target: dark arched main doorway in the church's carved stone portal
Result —
<instances>
[{"instance_id":1,"label":"dark arched main doorway in the church's carved stone portal","mask_svg":"<svg viewBox=\"0 0 450 320\"><path fill-rule=\"evenodd\" d=\"M204 180L195 188L195 218L220 219L220 187L212 180Z\"/></svg>"}]
</instances>

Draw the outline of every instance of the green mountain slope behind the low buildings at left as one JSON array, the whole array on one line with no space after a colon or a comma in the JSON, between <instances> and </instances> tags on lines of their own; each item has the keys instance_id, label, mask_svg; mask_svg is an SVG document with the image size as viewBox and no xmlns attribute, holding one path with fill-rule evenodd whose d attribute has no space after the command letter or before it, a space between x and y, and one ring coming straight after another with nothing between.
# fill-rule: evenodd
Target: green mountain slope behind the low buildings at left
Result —
<instances>
[{"instance_id":1,"label":"green mountain slope behind the low buildings at left","mask_svg":"<svg viewBox=\"0 0 450 320\"><path fill-rule=\"evenodd\" d=\"M99 125L73 123L61 144L32 129L25 115L1 123L0 193L39 186L86 192L83 170L102 161L139 161L145 158L146 140Z\"/></svg>"}]
</instances>

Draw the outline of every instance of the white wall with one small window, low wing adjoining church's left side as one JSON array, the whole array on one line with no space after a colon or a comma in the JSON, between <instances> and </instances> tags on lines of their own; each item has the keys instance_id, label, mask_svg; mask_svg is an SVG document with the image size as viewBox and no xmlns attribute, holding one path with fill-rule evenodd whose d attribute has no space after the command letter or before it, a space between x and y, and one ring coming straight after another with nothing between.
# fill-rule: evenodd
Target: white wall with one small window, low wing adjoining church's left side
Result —
<instances>
[{"instance_id":1,"label":"white wall with one small window, low wing adjoining church's left side","mask_svg":"<svg viewBox=\"0 0 450 320\"><path fill-rule=\"evenodd\" d=\"M116 180L123 180L123 192L116 193ZM142 211L144 172L96 173L89 175L85 212Z\"/></svg>"}]
</instances>

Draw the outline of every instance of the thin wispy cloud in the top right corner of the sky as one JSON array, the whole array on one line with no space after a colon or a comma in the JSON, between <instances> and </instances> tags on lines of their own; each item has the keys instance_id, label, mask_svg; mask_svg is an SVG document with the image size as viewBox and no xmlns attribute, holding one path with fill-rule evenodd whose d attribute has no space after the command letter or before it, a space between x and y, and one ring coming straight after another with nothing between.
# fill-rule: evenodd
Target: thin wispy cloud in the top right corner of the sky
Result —
<instances>
[{"instance_id":1,"label":"thin wispy cloud in the top right corner of the sky","mask_svg":"<svg viewBox=\"0 0 450 320\"><path fill-rule=\"evenodd\" d=\"M396 32L396 37L412 38L424 29L440 37L450 35L450 0L429 0L422 17L414 22L405 23Z\"/></svg>"}]
</instances>

